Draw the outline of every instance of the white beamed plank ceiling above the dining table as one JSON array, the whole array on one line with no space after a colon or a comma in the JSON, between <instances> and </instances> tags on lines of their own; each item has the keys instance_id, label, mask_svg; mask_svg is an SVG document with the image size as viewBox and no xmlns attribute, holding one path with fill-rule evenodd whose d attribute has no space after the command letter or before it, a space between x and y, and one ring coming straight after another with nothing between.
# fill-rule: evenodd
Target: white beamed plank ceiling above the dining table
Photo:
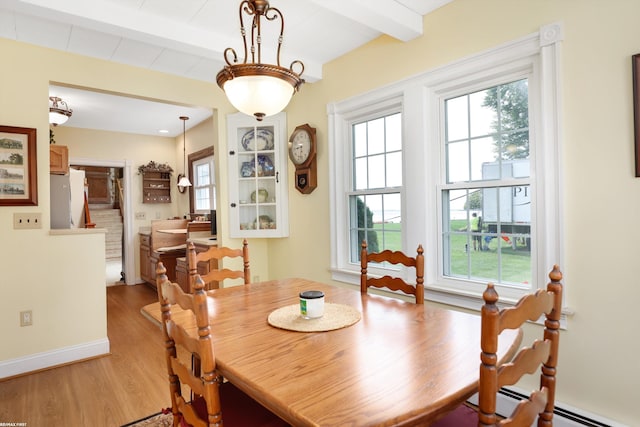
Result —
<instances>
[{"instance_id":1,"label":"white beamed plank ceiling above the dining table","mask_svg":"<svg viewBox=\"0 0 640 427\"><path fill-rule=\"evenodd\" d=\"M303 78L320 80L324 63L381 34L402 41L420 36L422 17L451 1L272 0L285 23L281 65L300 60L305 66ZM0 0L0 37L215 83L226 48L235 49L242 59L239 4L238 0ZM272 47L278 31L279 25L263 24L262 62L275 61ZM75 104L74 111L78 107Z\"/></svg>"}]
</instances>

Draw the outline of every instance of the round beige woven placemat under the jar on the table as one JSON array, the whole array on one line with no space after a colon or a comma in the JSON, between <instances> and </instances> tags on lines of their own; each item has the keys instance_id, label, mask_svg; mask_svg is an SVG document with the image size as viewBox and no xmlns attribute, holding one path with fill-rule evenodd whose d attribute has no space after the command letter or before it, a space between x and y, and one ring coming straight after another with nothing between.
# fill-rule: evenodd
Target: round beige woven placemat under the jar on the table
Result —
<instances>
[{"instance_id":1,"label":"round beige woven placemat under the jar on the table","mask_svg":"<svg viewBox=\"0 0 640 427\"><path fill-rule=\"evenodd\" d=\"M276 328L296 332L325 332L351 326L360 320L360 312L344 304L325 303L324 315L317 319L305 319L300 315L300 305L288 305L274 310L267 318Z\"/></svg>"}]
</instances>

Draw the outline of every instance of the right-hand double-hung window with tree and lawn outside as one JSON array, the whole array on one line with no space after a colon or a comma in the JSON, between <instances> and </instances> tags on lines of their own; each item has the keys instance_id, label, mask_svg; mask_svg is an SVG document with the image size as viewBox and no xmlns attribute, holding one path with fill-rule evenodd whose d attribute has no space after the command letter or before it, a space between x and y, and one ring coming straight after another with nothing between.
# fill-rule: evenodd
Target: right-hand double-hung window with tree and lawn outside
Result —
<instances>
[{"instance_id":1,"label":"right-hand double-hung window with tree and lawn outside","mask_svg":"<svg viewBox=\"0 0 640 427\"><path fill-rule=\"evenodd\" d=\"M531 283L528 80L444 100L442 270Z\"/></svg>"}]
</instances>

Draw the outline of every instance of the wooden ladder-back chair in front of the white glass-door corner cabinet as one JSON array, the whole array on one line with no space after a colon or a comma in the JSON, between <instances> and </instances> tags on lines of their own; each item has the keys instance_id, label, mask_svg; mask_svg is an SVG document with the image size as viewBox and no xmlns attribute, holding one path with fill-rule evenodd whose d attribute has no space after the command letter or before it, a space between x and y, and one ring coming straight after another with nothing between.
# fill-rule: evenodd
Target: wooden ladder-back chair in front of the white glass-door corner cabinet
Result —
<instances>
[{"instance_id":1,"label":"wooden ladder-back chair in front of the white glass-door corner cabinet","mask_svg":"<svg viewBox=\"0 0 640 427\"><path fill-rule=\"evenodd\" d=\"M219 268L224 258L242 258L242 270L230 270ZM242 241L242 248L232 249L225 246L212 246L203 252L196 252L193 243L187 245L187 265L189 267L189 283L193 291L194 278L198 274L198 263L215 260L216 268L209 268L207 273L201 274L207 289L217 287L214 283L219 283L225 279L243 279L244 284L251 282L251 270L249 268L249 243L247 239Z\"/></svg>"}]
</instances>

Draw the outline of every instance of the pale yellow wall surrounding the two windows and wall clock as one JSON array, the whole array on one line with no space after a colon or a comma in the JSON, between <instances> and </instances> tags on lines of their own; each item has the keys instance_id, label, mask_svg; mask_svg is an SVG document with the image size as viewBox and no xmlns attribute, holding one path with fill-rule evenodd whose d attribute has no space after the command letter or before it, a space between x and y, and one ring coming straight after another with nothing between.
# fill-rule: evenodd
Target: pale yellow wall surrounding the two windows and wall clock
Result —
<instances>
[{"instance_id":1,"label":"pale yellow wall surrounding the two windows and wall clock","mask_svg":"<svg viewBox=\"0 0 640 427\"><path fill-rule=\"evenodd\" d=\"M561 267L566 303L575 315L561 336L557 399L636 425L640 179L634 177L631 55L640 53L638 16L636 0L455 0L425 17L424 36L408 43L380 37L327 64L323 80L303 87L288 108L290 131L305 122L318 127L318 188L309 196L290 192L291 237L269 242L270 252L277 254L270 258L272 276L331 280L327 103L561 21ZM527 335L539 332L526 330ZM523 387L530 389L534 382Z\"/></svg>"}]
</instances>

